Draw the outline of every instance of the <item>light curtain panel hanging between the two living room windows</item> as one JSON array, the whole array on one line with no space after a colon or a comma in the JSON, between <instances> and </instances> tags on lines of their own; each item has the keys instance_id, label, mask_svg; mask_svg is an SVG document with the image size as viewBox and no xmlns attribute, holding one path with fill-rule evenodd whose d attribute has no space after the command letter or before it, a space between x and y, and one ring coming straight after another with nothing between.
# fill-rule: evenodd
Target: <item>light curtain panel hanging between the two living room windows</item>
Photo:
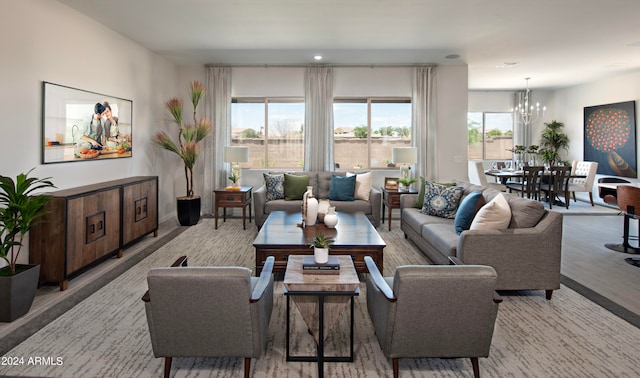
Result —
<instances>
[{"instance_id":1,"label":"light curtain panel hanging between the two living room windows","mask_svg":"<svg viewBox=\"0 0 640 378\"><path fill-rule=\"evenodd\" d=\"M333 171L333 68L307 67L304 98L304 169Z\"/></svg>"}]
</instances>

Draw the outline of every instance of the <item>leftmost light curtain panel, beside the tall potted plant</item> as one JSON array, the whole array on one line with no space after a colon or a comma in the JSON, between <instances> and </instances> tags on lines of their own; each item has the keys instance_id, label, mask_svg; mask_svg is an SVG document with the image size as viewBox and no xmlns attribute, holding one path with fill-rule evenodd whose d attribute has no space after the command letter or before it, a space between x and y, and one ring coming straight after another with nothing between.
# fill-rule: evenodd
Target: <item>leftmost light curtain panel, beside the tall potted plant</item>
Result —
<instances>
[{"instance_id":1,"label":"leftmost light curtain panel, beside the tall potted plant","mask_svg":"<svg viewBox=\"0 0 640 378\"><path fill-rule=\"evenodd\" d=\"M212 121L213 129L204 140L201 152L204 158L202 213L210 215L213 214L213 191L226 183L222 151L231 145L231 67L207 66L206 80L205 114Z\"/></svg>"}]
</instances>

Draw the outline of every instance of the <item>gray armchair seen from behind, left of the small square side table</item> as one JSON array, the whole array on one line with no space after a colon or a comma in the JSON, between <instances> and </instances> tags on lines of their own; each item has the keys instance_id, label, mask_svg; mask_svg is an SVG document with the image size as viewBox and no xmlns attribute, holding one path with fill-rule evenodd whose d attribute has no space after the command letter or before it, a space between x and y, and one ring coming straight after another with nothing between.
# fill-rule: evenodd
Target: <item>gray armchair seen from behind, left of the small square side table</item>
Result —
<instances>
[{"instance_id":1,"label":"gray armchair seen from behind, left of the small square side table","mask_svg":"<svg viewBox=\"0 0 640 378\"><path fill-rule=\"evenodd\" d=\"M260 277L244 267L179 267L186 265L180 261L149 271L142 300L165 377L172 357L244 357L249 377L251 358L260 357L267 342L273 263L267 258Z\"/></svg>"}]
</instances>

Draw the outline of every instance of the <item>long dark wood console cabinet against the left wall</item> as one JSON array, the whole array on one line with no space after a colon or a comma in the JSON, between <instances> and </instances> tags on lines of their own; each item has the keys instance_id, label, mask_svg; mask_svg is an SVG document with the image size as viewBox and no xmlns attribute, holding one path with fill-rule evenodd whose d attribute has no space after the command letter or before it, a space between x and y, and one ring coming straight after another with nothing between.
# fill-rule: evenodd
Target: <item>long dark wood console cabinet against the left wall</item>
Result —
<instances>
[{"instance_id":1,"label":"long dark wood console cabinet against the left wall","mask_svg":"<svg viewBox=\"0 0 640 378\"><path fill-rule=\"evenodd\" d=\"M40 281L65 290L83 268L122 257L123 248L158 232L158 177L138 176L48 193L42 222L29 232L29 263Z\"/></svg>"}]
</instances>

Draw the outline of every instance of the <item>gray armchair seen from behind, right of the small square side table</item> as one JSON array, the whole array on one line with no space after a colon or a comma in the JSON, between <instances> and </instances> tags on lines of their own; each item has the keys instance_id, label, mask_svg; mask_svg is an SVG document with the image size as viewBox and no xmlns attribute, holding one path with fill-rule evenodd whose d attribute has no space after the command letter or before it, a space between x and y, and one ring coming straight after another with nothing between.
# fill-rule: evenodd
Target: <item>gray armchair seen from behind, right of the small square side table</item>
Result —
<instances>
[{"instance_id":1,"label":"gray armchair seen from behind, right of the small square side table","mask_svg":"<svg viewBox=\"0 0 640 378\"><path fill-rule=\"evenodd\" d=\"M398 377L400 358L471 358L475 377L478 357L488 357L502 299L490 266L399 266L382 277L365 257L367 309L385 356Z\"/></svg>"}]
</instances>

